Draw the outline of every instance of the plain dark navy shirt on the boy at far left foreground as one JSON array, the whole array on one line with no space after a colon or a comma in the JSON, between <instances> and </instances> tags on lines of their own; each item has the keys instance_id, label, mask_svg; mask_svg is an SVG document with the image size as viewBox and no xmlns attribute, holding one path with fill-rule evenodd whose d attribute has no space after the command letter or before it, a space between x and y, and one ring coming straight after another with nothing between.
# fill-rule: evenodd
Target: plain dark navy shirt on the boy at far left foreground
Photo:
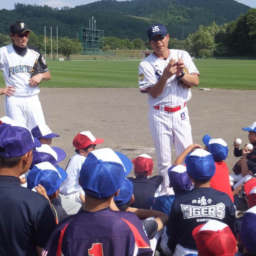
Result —
<instances>
[{"instance_id":1,"label":"plain dark navy shirt on the boy at far left foreground","mask_svg":"<svg viewBox=\"0 0 256 256\"><path fill-rule=\"evenodd\" d=\"M37 256L56 226L49 201L0 175L0 255Z\"/></svg>"}]
</instances>

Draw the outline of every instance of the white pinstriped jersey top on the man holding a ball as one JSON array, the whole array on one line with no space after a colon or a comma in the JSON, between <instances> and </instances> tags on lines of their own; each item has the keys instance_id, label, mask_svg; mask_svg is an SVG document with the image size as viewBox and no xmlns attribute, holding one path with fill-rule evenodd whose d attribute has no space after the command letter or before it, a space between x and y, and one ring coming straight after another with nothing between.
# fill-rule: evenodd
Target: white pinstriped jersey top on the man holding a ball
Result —
<instances>
[{"instance_id":1,"label":"white pinstriped jersey top on the man holding a ball","mask_svg":"<svg viewBox=\"0 0 256 256\"><path fill-rule=\"evenodd\" d=\"M176 59L182 58L189 74L199 74L194 62L186 51L169 49L169 55L166 60L151 54L145 58L139 66L139 87L142 93L147 93L146 88L157 83L171 57L176 57ZM174 75L167 80L163 92L158 97L153 98L148 94L148 104L150 106L176 106L188 101L190 98L190 89L183 89L176 75Z\"/></svg>"}]
</instances>

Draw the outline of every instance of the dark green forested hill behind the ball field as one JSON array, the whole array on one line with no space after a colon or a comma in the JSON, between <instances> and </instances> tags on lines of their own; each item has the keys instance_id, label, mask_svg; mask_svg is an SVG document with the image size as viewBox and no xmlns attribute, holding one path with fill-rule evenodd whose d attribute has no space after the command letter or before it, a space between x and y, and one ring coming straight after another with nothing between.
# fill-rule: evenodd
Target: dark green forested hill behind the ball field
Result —
<instances>
[{"instance_id":1,"label":"dark green forested hill behind the ball field","mask_svg":"<svg viewBox=\"0 0 256 256\"><path fill-rule=\"evenodd\" d=\"M89 18L94 16L96 29L104 30L105 36L146 40L147 28L152 23L163 23L171 37L181 40L200 24L207 26L215 21L222 25L246 14L249 8L234 0L102 0L60 10L17 3L13 10L0 10L0 33L8 34L10 24L22 19L37 35L44 34L44 26L47 35L50 26L56 35L58 26L59 36L75 38L79 27L89 27Z\"/></svg>"}]
</instances>

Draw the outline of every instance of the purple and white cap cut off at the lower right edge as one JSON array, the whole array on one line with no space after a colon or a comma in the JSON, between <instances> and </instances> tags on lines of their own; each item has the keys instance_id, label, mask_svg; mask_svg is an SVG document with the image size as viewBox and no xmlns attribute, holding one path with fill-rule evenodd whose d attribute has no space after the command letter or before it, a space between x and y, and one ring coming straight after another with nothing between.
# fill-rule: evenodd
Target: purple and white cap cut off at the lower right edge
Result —
<instances>
[{"instance_id":1,"label":"purple and white cap cut off at the lower right edge","mask_svg":"<svg viewBox=\"0 0 256 256\"><path fill-rule=\"evenodd\" d=\"M244 213L239 235L243 246L248 251L256 253L256 206Z\"/></svg>"}]
</instances>

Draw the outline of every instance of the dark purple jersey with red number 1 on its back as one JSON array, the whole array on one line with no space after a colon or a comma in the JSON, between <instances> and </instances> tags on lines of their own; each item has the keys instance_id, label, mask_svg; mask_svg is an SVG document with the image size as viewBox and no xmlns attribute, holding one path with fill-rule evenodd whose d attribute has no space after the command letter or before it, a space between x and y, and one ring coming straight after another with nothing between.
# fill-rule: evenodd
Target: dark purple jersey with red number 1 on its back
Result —
<instances>
[{"instance_id":1,"label":"dark purple jersey with red number 1 on its back","mask_svg":"<svg viewBox=\"0 0 256 256\"><path fill-rule=\"evenodd\" d=\"M48 252L49 251L49 252ZM42 255L152 255L142 222L131 212L81 210L59 223ZM88 254L87 254L88 253Z\"/></svg>"}]
</instances>

